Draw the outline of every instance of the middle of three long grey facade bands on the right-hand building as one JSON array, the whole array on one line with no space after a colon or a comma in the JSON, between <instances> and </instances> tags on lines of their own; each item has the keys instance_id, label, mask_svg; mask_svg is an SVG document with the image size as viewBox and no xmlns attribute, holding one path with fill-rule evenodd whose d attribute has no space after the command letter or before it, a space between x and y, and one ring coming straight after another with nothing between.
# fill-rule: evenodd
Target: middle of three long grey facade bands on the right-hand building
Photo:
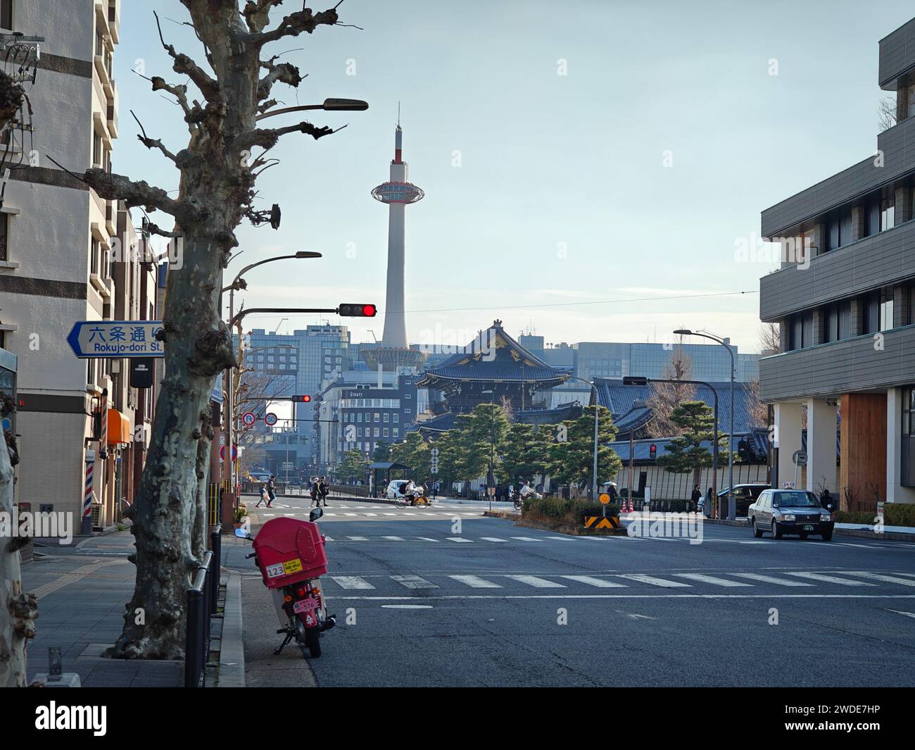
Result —
<instances>
[{"instance_id":1,"label":"middle of three long grey facade bands on the right-hand building","mask_svg":"<svg viewBox=\"0 0 915 750\"><path fill-rule=\"evenodd\" d=\"M779 321L835 299L915 277L915 221L759 279L759 319Z\"/></svg>"}]
</instances>

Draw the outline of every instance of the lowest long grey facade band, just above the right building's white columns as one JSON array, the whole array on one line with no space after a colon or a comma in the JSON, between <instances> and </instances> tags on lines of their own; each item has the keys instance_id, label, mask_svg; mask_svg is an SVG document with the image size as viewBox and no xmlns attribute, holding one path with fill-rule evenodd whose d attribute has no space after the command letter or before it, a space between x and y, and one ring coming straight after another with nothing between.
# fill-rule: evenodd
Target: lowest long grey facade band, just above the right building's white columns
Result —
<instances>
[{"instance_id":1,"label":"lowest long grey facade band, just above the right building's white columns","mask_svg":"<svg viewBox=\"0 0 915 750\"><path fill-rule=\"evenodd\" d=\"M915 326L776 354L759 360L759 399L883 390L915 383Z\"/></svg>"}]
</instances>

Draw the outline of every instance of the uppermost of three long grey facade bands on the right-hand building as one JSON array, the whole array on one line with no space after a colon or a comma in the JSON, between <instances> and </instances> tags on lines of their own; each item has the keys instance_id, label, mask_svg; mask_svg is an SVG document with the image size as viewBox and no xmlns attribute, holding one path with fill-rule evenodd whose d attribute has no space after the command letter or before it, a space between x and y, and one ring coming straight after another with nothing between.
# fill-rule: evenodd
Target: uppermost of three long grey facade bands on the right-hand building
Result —
<instances>
[{"instance_id":1,"label":"uppermost of three long grey facade bands on the right-hand building","mask_svg":"<svg viewBox=\"0 0 915 750\"><path fill-rule=\"evenodd\" d=\"M877 136L877 149L883 154L882 166L878 166L876 154L868 156L854 167L762 212L763 236L791 236L791 230L804 220L820 216L915 170L915 117Z\"/></svg>"}]
</instances>

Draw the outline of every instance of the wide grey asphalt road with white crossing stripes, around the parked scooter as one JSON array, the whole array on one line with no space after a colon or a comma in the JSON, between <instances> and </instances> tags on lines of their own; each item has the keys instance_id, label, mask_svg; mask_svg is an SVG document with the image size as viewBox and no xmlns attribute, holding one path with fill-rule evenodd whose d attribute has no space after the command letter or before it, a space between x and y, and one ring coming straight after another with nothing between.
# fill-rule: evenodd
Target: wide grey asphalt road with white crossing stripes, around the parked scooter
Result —
<instances>
[{"instance_id":1,"label":"wide grey asphalt road with white crossing stripes, around the parked scooter","mask_svg":"<svg viewBox=\"0 0 915 750\"><path fill-rule=\"evenodd\" d=\"M339 625L318 659L273 657L273 604L230 542L249 684L915 685L913 544L723 526L694 545L567 537L447 505L331 498L323 585Z\"/></svg>"}]
</instances>

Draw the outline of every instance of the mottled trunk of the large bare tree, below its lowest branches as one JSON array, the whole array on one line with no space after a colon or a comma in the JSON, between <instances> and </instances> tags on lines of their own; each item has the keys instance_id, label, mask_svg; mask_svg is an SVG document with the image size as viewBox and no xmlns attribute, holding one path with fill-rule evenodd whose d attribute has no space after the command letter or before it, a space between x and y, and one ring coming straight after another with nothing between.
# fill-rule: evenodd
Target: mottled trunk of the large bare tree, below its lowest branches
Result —
<instances>
[{"instance_id":1,"label":"mottled trunk of the large bare tree, below its lowest branches","mask_svg":"<svg viewBox=\"0 0 915 750\"><path fill-rule=\"evenodd\" d=\"M189 240L181 268L168 276L166 375L132 516L134 595L114 657L184 657L186 592L205 549L205 539L192 541L199 539L198 454L209 451L215 376L231 359L231 338L217 318L221 271L218 250Z\"/></svg>"}]
</instances>

